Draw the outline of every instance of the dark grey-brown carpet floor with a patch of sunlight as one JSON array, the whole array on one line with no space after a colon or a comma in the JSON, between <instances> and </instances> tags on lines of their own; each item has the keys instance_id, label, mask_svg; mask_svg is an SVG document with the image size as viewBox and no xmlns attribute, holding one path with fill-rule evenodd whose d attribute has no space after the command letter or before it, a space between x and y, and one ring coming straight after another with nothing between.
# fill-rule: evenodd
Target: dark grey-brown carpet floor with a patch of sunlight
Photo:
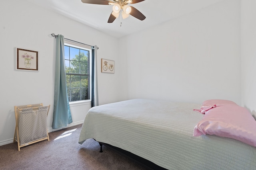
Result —
<instances>
[{"instance_id":1,"label":"dark grey-brown carpet floor with a patch of sunlight","mask_svg":"<svg viewBox=\"0 0 256 170\"><path fill-rule=\"evenodd\" d=\"M145 170L93 139L78 144L82 125L49 133L50 141L22 147L17 143L0 146L0 170Z\"/></svg>"}]
</instances>

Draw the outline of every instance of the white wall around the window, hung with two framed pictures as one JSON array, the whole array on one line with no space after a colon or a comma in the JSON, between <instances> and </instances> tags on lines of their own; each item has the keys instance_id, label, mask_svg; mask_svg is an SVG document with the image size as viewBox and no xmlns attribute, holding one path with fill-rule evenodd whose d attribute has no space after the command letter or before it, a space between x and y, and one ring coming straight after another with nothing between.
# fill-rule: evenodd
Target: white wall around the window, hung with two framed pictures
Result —
<instances>
[{"instance_id":1,"label":"white wall around the window, hung with two framed pictures","mask_svg":"<svg viewBox=\"0 0 256 170\"><path fill-rule=\"evenodd\" d=\"M89 45L98 45L99 103L118 100L118 73L100 72L100 59L118 62L117 39L91 27L44 10L26 0L0 2L0 144L10 143L15 128L14 106L43 103L51 105L48 129L52 126L54 100L55 43L51 33ZM15 70L15 47L39 51L39 71ZM118 72L118 68L115 68ZM82 123L90 105L70 106L73 122Z\"/></svg>"}]
</instances>

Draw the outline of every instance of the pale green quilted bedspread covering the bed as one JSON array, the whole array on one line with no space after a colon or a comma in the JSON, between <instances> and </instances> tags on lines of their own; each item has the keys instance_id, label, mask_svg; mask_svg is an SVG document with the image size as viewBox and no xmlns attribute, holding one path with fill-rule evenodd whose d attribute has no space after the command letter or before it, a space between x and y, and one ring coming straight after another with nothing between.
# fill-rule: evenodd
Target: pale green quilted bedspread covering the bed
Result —
<instances>
[{"instance_id":1,"label":"pale green quilted bedspread covering the bed","mask_svg":"<svg viewBox=\"0 0 256 170\"><path fill-rule=\"evenodd\" d=\"M147 99L92 107L78 143L94 139L168 170L255 170L256 147L216 135L193 136L204 117L193 109L200 107Z\"/></svg>"}]
</instances>

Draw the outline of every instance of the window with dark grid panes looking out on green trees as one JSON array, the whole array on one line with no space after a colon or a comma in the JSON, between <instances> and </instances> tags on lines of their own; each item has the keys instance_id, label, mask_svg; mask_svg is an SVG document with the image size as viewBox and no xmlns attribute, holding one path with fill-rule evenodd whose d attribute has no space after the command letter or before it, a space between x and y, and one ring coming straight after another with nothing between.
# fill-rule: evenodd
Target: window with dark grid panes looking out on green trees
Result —
<instances>
[{"instance_id":1,"label":"window with dark grid panes looking out on green trees","mask_svg":"<svg viewBox=\"0 0 256 170\"><path fill-rule=\"evenodd\" d=\"M90 100L90 55L86 45L64 43L66 82L69 102Z\"/></svg>"}]
</instances>

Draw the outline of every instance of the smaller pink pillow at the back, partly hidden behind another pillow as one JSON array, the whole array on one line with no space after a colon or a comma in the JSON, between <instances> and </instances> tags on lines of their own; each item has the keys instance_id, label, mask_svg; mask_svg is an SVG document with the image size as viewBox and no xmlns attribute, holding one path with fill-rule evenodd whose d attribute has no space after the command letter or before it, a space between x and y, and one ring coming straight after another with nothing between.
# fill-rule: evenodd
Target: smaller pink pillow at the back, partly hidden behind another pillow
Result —
<instances>
[{"instance_id":1,"label":"smaller pink pillow at the back, partly hidden behind another pillow","mask_svg":"<svg viewBox=\"0 0 256 170\"><path fill-rule=\"evenodd\" d=\"M205 111L217 107L217 106L230 106L230 105L237 105L235 102L232 102L230 100L221 100L221 99L211 99L211 100L205 100L202 103L202 106L200 109L194 109L194 111L197 111L199 113L204 114Z\"/></svg>"}]
</instances>

